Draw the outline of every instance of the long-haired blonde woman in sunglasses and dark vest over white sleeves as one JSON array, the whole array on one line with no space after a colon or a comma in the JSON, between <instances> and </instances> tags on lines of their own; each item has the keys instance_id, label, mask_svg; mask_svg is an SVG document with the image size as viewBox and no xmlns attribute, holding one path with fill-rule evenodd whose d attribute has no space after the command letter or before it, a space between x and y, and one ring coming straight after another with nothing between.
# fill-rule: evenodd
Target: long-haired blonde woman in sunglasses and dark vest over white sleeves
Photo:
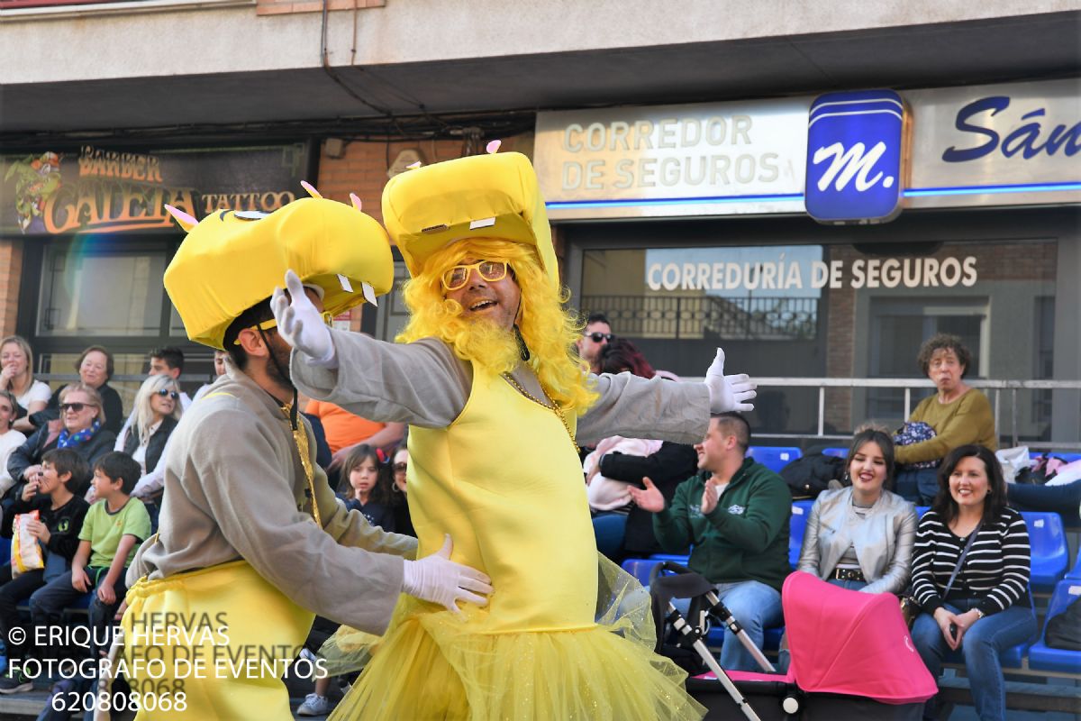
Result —
<instances>
[{"instance_id":1,"label":"long-haired blonde woman in sunglasses and dark vest over white sleeves","mask_svg":"<svg viewBox=\"0 0 1081 721\"><path fill-rule=\"evenodd\" d=\"M143 478L135 484L132 495L141 498L150 512L150 520L157 525L157 500L161 496L162 480L157 484L144 483L147 475L158 467L164 457L165 443L179 423L184 412L181 405L181 387L176 379L164 373L151 375L135 393L135 412L123 438L117 439L114 450L123 451L143 468Z\"/></svg>"}]
</instances>

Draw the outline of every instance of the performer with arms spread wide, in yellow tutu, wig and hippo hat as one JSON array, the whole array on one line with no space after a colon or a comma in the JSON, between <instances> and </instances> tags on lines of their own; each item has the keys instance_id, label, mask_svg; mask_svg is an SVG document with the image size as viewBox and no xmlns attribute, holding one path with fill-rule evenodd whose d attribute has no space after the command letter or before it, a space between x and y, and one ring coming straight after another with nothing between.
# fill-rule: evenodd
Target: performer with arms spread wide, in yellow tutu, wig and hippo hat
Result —
<instances>
[{"instance_id":1,"label":"performer with arms spread wide, in yellow tutu, wig and hippo hat","mask_svg":"<svg viewBox=\"0 0 1081 721\"><path fill-rule=\"evenodd\" d=\"M383 214L412 276L406 343L328 329L290 272L292 302L276 291L271 305L293 378L312 398L411 425L421 551L450 530L452 558L495 590L464 618L402 598L331 718L700 718L683 672L653 653L648 595L597 552L576 439L696 442L710 411L751 408L752 384L725 379L721 353L704 384L587 374L522 155L398 175Z\"/></svg>"}]
</instances>

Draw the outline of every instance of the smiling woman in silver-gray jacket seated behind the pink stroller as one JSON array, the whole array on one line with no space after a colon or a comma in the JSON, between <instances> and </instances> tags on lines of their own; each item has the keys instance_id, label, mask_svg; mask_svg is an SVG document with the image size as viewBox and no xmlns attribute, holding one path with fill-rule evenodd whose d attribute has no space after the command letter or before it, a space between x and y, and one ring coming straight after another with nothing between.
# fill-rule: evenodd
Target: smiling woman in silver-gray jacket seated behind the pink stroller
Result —
<instances>
[{"instance_id":1,"label":"smiling woman in silver-gray jacket seated behind the pink stroller","mask_svg":"<svg viewBox=\"0 0 1081 721\"><path fill-rule=\"evenodd\" d=\"M911 574L916 508L885 490L893 440L876 428L849 449L852 485L822 493L811 508L798 571L867 593L900 593Z\"/></svg>"}]
</instances>

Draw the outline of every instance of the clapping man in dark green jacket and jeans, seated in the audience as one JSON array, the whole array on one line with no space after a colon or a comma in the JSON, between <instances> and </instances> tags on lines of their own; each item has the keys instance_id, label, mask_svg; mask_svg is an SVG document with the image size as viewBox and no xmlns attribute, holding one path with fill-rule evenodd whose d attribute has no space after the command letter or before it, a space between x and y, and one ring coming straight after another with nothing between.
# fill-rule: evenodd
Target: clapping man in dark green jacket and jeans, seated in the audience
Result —
<instances>
[{"instance_id":1,"label":"clapping man in dark green jacket and jeans, seated in the audience","mask_svg":"<svg viewBox=\"0 0 1081 721\"><path fill-rule=\"evenodd\" d=\"M631 488L638 506L655 513L653 532L669 553L693 545L689 565L717 585L717 595L762 646L763 629L783 623L780 585L788 575L791 495L784 479L751 458L750 426L738 413L712 416L694 446L702 471L676 489L671 506L650 479ZM729 670L760 670L735 639L721 649Z\"/></svg>"}]
</instances>

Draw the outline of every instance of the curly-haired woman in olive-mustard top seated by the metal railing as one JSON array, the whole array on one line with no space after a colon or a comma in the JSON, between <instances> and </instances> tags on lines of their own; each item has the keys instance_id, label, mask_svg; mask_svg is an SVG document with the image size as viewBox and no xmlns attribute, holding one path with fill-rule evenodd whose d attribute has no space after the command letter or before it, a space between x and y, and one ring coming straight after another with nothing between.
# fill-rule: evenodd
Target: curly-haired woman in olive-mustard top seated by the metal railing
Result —
<instances>
[{"instance_id":1,"label":"curly-haired woman in olive-mustard top seated by the metal railing","mask_svg":"<svg viewBox=\"0 0 1081 721\"><path fill-rule=\"evenodd\" d=\"M911 445L898 445L897 465L937 462L947 453L967 443L990 450L998 448L995 414L987 397L970 388L964 376L972 369L972 353L956 335L938 333L929 338L917 357L920 371L935 384L937 392L924 398L910 422L922 422L935 429L935 437ZM908 500L930 505L938 492L936 468L902 470L896 491Z\"/></svg>"}]
</instances>

